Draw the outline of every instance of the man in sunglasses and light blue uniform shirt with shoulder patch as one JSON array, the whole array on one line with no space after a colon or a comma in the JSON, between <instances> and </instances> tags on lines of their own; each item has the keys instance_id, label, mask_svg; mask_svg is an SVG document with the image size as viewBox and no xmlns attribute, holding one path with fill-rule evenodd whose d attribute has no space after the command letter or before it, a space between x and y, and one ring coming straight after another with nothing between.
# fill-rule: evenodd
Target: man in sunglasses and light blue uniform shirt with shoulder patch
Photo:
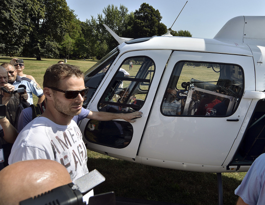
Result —
<instances>
[{"instance_id":1,"label":"man in sunglasses and light blue uniform shirt with shoulder patch","mask_svg":"<svg viewBox=\"0 0 265 205\"><path fill-rule=\"evenodd\" d=\"M6 69L8 75L8 82L11 85L14 85L15 88L18 88L19 85L26 86L28 94L27 101L29 104L33 104L32 93L39 98L38 103L41 103L44 100L45 96L43 95L43 90L33 80L30 80L27 77L20 77L19 75L17 75L17 70L15 69L14 65L10 63L3 63L1 64L1 66L3 66Z\"/></svg>"}]
</instances>

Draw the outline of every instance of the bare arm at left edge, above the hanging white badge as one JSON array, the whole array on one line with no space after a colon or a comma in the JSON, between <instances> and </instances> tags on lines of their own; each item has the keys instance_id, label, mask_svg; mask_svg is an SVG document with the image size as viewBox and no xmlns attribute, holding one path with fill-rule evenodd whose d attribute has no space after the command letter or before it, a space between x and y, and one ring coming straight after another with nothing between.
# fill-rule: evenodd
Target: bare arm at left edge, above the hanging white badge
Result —
<instances>
[{"instance_id":1,"label":"bare arm at left edge, above the hanging white badge","mask_svg":"<svg viewBox=\"0 0 265 205\"><path fill-rule=\"evenodd\" d=\"M16 128L11 125L6 117L0 119L0 125L2 126L4 131L4 140L6 140L8 143L14 143L17 137Z\"/></svg>"}]
</instances>

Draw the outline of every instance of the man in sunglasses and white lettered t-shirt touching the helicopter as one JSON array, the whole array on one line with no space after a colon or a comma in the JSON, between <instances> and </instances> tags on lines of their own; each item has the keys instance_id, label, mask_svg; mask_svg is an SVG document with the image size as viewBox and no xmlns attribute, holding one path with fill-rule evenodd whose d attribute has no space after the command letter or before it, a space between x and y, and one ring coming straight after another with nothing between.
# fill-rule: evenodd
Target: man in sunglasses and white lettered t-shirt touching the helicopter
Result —
<instances>
[{"instance_id":1,"label":"man in sunglasses and white lettered t-shirt touching the helicopter","mask_svg":"<svg viewBox=\"0 0 265 205\"><path fill-rule=\"evenodd\" d=\"M43 81L45 112L27 124L18 135L12 148L9 164L28 159L52 159L64 165L71 179L88 173L87 150L82 133L72 120L82 111L88 88L79 67L68 64L50 66ZM92 112L88 118L113 120L123 118L128 122L140 117L141 112L115 114Z\"/></svg>"}]
</instances>

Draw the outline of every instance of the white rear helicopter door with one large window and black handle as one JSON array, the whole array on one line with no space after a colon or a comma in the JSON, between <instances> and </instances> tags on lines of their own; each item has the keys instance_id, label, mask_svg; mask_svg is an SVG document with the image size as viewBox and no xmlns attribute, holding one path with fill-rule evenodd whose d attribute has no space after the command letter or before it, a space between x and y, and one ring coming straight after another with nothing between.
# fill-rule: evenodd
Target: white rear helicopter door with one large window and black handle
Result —
<instances>
[{"instance_id":1,"label":"white rear helicopter door with one large window and black handle","mask_svg":"<svg viewBox=\"0 0 265 205\"><path fill-rule=\"evenodd\" d=\"M138 155L221 166L250 106L242 96L255 90L254 76L252 57L173 52Z\"/></svg>"}]
</instances>

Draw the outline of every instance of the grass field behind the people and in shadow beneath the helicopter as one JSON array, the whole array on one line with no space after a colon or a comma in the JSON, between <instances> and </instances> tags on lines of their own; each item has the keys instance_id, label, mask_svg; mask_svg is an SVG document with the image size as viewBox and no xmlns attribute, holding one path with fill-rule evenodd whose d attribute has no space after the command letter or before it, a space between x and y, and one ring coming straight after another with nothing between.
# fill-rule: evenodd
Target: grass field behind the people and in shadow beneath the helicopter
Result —
<instances>
[{"instance_id":1,"label":"grass field behind the people and in shadow beneath the helicopter","mask_svg":"<svg viewBox=\"0 0 265 205\"><path fill-rule=\"evenodd\" d=\"M9 62L10 57L0 56L0 63ZM45 70L60 59L23 58L25 74L32 75L42 87ZM67 60L67 63L80 66L86 71L96 61ZM129 71L135 75L137 65ZM189 78L189 75L187 79ZM184 79L183 79L184 80ZM34 98L37 102L37 97ZM89 170L97 169L106 181L98 185L94 192L100 194L114 191L116 196L136 199L165 201L178 204L212 205L217 204L217 177L215 173L179 171L131 163L88 150ZM241 183L245 173L223 173L224 204L236 204L234 190Z\"/></svg>"}]
</instances>

